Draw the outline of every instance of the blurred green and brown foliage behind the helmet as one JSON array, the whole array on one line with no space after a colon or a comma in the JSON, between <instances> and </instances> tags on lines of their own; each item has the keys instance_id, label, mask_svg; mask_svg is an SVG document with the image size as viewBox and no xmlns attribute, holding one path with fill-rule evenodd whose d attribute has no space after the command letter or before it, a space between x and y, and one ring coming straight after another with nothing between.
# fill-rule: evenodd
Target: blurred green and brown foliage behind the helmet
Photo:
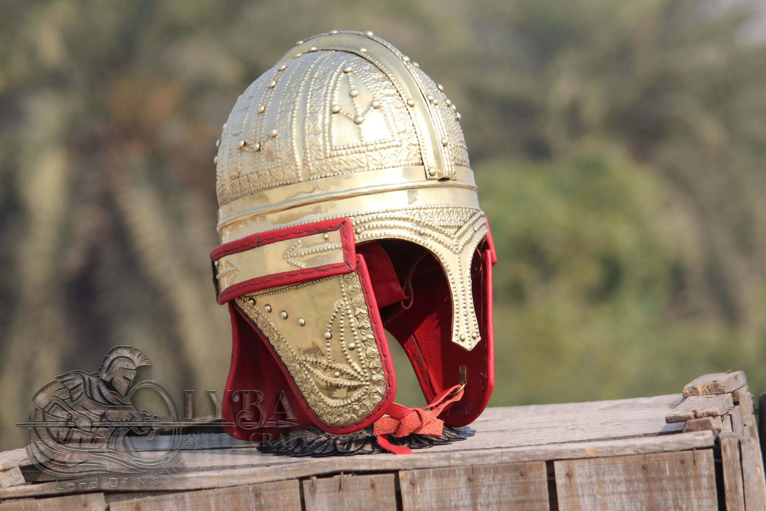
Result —
<instances>
[{"instance_id":1,"label":"blurred green and brown foliage behind the helmet","mask_svg":"<svg viewBox=\"0 0 766 511\"><path fill-rule=\"evenodd\" d=\"M214 140L247 84L332 28L375 31L460 106L499 256L492 405L725 369L766 390L755 5L2 0L0 449L23 445L34 391L116 344L178 401L222 391Z\"/></svg>"}]
</instances>

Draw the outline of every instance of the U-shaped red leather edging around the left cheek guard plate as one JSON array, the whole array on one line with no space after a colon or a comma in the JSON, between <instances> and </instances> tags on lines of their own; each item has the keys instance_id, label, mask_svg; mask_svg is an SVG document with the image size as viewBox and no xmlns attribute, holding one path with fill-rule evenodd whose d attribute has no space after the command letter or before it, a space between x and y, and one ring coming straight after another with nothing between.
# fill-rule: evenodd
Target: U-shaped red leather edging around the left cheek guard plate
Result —
<instances>
[{"instance_id":1,"label":"U-shaped red leather edging around the left cheek guard plate","mask_svg":"<svg viewBox=\"0 0 766 511\"><path fill-rule=\"evenodd\" d=\"M378 304L375 303L375 294L372 293L372 286L370 284L370 276L367 271L367 265L365 264L365 258L361 255L358 255L355 262L356 271L359 274L359 281L362 283L362 295L365 296L365 303L367 303L367 310L369 313L368 316L370 319L370 324L372 325L373 335L375 336L375 343L377 344L378 352L381 355L381 364L383 365L383 375L386 384L385 394L383 395L380 403L378 403L378 406L373 408L372 413L370 413L361 421L345 424L343 426L333 426L332 424L327 424L325 421L322 421L322 419L320 419L314 413L314 411L309 408L309 405L303 398L303 395L301 394L298 386L293 381L293 377L290 375L290 372L282 362L282 359L280 359L280 356L277 355L277 352L274 351L273 346L271 346L271 343L266 338L266 336L260 332L260 329L258 329L255 323L253 323L253 320L250 319L250 317L248 317L243 310L237 306L234 306L240 313L240 316L242 316L242 318L247 321L251 327L253 327L253 329L258 333L260 339L266 344L269 352L277 361L277 365L279 365L280 369L285 375L290 388L293 390L293 395L296 396L297 401L303 411L305 411L309 418L311 418L311 420L314 422L314 424L322 428L323 431L335 434L351 433L352 431L358 431L363 427L367 427L368 425L374 423L379 418L381 418L383 414L385 414L385 411L389 406L391 406L391 403L394 401L394 396L396 395L394 363L391 360L391 354L388 352L388 342L385 338L385 330L383 329L383 324L381 323L380 313L378 313ZM234 322L232 322L232 328L234 329L234 327ZM231 378L231 374L229 377Z\"/></svg>"}]
</instances>

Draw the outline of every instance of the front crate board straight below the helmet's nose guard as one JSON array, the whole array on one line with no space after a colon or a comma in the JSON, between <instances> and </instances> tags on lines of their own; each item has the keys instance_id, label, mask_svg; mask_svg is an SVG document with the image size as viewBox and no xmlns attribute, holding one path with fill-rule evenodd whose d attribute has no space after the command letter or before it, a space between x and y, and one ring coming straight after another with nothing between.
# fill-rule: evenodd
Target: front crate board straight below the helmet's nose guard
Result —
<instances>
[{"instance_id":1,"label":"front crate board straight below the helmet's nose guard","mask_svg":"<svg viewBox=\"0 0 766 511\"><path fill-rule=\"evenodd\" d=\"M548 511L545 462L477 465L399 473L403 511Z\"/></svg>"}]
</instances>

